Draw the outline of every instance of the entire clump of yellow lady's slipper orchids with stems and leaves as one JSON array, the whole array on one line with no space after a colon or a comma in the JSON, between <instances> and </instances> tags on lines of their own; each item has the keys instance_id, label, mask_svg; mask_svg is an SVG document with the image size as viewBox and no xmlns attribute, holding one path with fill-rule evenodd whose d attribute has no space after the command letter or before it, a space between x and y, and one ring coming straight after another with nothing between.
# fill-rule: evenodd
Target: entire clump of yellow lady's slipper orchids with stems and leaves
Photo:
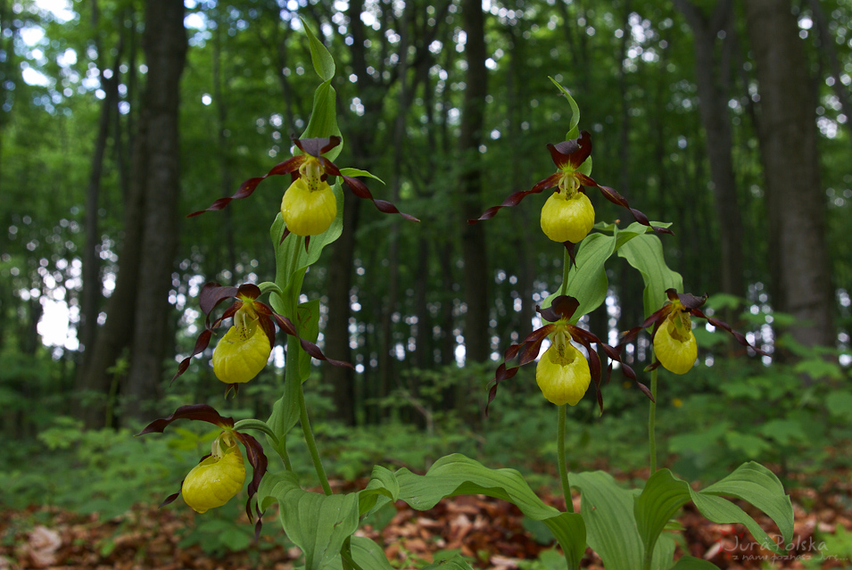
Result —
<instances>
[{"instance_id":1,"label":"entire clump of yellow lady's slipper orchids with stems and leaves","mask_svg":"<svg viewBox=\"0 0 852 570\"><path fill-rule=\"evenodd\" d=\"M538 308L542 326L505 351L488 393L488 402L496 396L499 384L515 377L520 366L534 362L544 343L548 343L538 358L535 376L542 395L555 406L554 436L566 510L560 511L543 502L517 470L492 469L458 453L435 460L426 475L417 475L408 468L391 470L376 466L365 489L332 492L310 425L305 403L305 389L310 386L306 380L310 376L311 359L325 360L328 366L350 365L329 358L335 355L326 355L318 348L319 300L300 302L302 280L326 245L341 235L344 191L373 202L379 211L399 214L412 221L417 219L401 213L392 203L373 197L360 178L375 176L365 170L340 168L335 164L343 148L343 136L335 116L335 89L331 86L335 62L304 22L302 24L310 42L314 69L322 82L314 95L305 132L293 138L294 156L266 175L245 181L233 196L221 198L206 210L191 214L221 210L233 200L248 198L266 178L289 175L291 184L270 230L276 251L275 281L260 285L205 285L198 300L206 316L205 327L192 354L180 363L176 375L186 371L191 359L203 353L219 327L230 320L231 326L212 353L213 371L227 384L226 395L232 390L237 392L240 384L251 381L261 372L277 342L277 335L282 332L286 338L284 393L272 402L271 414L266 420L252 418L235 422L209 405L192 404L181 406L170 416L147 425L141 434L163 432L173 422L183 419L207 422L221 429L211 442L210 454L186 475L180 491L165 502L182 495L186 504L199 513L225 505L244 488L247 459L252 477L245 509L250 519L257 519L256 532L260 532L262 514L277 504L278 521L288 539L302 549L304 567L310 570L389 570L393 566L385 558L384 550L376 542L355 535L362 521L395 501L401 500L411 508L423 510L462 494L484 494L517 505L528 519L539 521L550 530L569 569L579 567L587 547L600 555L608 570L715 568L706 560L690 556L683 556L675 563L674 539L663 533L675 513L690 501L708 519L745 525L764 548L780 552L783 543L776 543L731 500L748 501L765 512L778 525L782 541L790 541L793 531L790 498L769 469L757 463L746 463L721 481L696 491L690 483L657 466L657 367L663 366L675 374L685 374L692 368L697 342L691 321L707 319L710 324L730 332L740 343L749 343L724 322L707 317L701 310L704 298L683 293L682 277L666 266L657 236L672 233L671 224L649 221L616 190L601 186L591 178L591 135L579 130L579 109L567 90L556 81L554 84L567 98L572 110L566 140L547 146L556 172L531 189L510 195L499 206L484 211L479 219L469 220L469 223L492 219L502 208L514 206L531 194L553 189L542 207L541 226L544 234L559 244L564 266L562 284L558 292ZM625 228L602 222L596 224L594 209L586 194L592 188L597 188L608 201L630 211L635 223ZM592 229L599 231L591 233ZM640 271L644 280L641 294L648 318L629 331L622 344L641 330L651 328L657 360L647 369L649 386L641 383L633 369L622 360L622 346L612 347L577 325L583 315L604 302L608 287L605 264L614 256ZM265 297L268 301L261 301ZM604 364L595 349L605 355ZM754 346L750 349L761 352ZM637 489L625 489L602 471L567 472L568 409L583 398L591 381L596 384L595 392L602 409L601 379L612 374L614 368L635 382L650 401L650 476ZM310 451L310 463L321 493L302 488L291 461L287 444L295 437L297 424L301 425L302 438ZM265 436L265 443L259 442L250 432ZM274 467L268 455L276 458L272 462ZM572 489L580 493L580 512L575 512ZM470 567L460 556L428 567L438 565Z\"/></svg>"}]
</instances>

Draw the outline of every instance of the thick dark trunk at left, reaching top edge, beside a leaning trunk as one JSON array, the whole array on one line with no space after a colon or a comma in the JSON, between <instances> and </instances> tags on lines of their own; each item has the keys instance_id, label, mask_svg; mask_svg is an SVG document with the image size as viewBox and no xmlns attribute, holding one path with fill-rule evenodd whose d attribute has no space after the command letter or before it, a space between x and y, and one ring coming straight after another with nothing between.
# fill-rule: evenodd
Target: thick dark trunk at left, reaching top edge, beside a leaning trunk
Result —
<instances>
[{"instance_id":1,"label":"thick dark trunk at left, reaching top edge, beside a leaning trunk","mask_svg":"<svg viewBox=\"0 0 852 570\"><path fill-rule=\"evenodd\" d=\"M130 353L126 397L128 417L144 418L142 404L156 397L162 380L168 338L168 302L178 244L177 202L180 189L178 106L180 76L186 62L184 4L148 0L144 48L148 65L144 113L144 232L139 263L143 286L136 298L136 322Z\"/></svg>"}]
</instances>

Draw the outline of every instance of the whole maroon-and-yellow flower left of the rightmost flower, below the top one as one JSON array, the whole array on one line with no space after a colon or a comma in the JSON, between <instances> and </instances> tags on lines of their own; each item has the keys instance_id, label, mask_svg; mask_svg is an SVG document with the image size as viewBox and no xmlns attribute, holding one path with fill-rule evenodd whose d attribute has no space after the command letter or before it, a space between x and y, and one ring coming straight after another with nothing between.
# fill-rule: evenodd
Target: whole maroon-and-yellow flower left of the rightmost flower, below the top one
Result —
<instances>
[{"instance_id":1,"label":"whole maroon-and-yellow flower left of the rightmost flower, below the top one","mask_svg":"<svg viewBox=\"0 0 852 570\"><path fill-rule=\"evenodd\" d=\"M535 381L542 389L544 397L558 406L564 404L575 406L583 398L591 380L594 380L598 388L598 405L603 411L603 397L600 395L600 359L598 353L591 350L591 344L597 344L610 359L619 362L621 359L614 348L603 343L589 331L570 323L579 306L580 302L574 297L559 295L547 309L535 308L549 323L534 330L523 343L512 344L503 353L503 362L497 368L494 384L488 392L489 404L497 395L497 385L515 376L518 368L532 362L538 356L544 339L552 335L550 347L544 352L535 368ZM580 344L589 357L583 356L583 353L571 343L572 341ZM517 366L507 367L506 363L516 357ZM625 376L636 379L632 368L625 364L622 364L621 368Z\"/></svg>"}]
</instances>

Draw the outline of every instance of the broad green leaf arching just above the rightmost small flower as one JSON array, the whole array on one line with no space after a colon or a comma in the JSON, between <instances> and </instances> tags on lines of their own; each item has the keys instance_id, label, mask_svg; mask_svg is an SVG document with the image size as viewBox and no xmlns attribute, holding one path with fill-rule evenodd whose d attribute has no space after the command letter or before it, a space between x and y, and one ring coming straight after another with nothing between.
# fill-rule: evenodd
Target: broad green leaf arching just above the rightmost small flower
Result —
<instances>
[{"instance_id":1,"label":"broad green leaf arching just above the rightmost small flower","mask_svg":"<svg viewBox=\"0 0 852 570\"><path fill-rule=\"evenodd\" d=\"M625 258L642 274L645 281L645 291L642 293L645 317L649 317L668 300L666 289L683 291L683 277L666 265L663 244L656 235L637 236L618 249L618 256Z\"/></svg>"}]
</instances>

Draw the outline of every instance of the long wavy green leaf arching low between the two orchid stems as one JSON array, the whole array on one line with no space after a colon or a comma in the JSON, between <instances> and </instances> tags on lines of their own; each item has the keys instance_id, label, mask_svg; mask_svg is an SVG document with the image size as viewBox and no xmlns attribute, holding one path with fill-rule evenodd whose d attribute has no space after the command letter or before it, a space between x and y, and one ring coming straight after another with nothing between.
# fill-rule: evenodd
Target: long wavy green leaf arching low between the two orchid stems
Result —
<instances>
[{"instance_id":1,"label":"long wavy green leaf arching low between the two orchid stems","mask_svg":"<svg viewBox=\"0 0 852 570\"><path fill-rule=\"evenodd\" d=\"M454 453L438 459L426 475L400 469L396 479L400 484L399 499L418 510L433 508L445 497L456 495L483 494L508 500L525 516L548 526L565 552L569 568L580 565L586 541L583 518L546 505L515 469L490 469Z\"/></svg>"}]
</instances>

